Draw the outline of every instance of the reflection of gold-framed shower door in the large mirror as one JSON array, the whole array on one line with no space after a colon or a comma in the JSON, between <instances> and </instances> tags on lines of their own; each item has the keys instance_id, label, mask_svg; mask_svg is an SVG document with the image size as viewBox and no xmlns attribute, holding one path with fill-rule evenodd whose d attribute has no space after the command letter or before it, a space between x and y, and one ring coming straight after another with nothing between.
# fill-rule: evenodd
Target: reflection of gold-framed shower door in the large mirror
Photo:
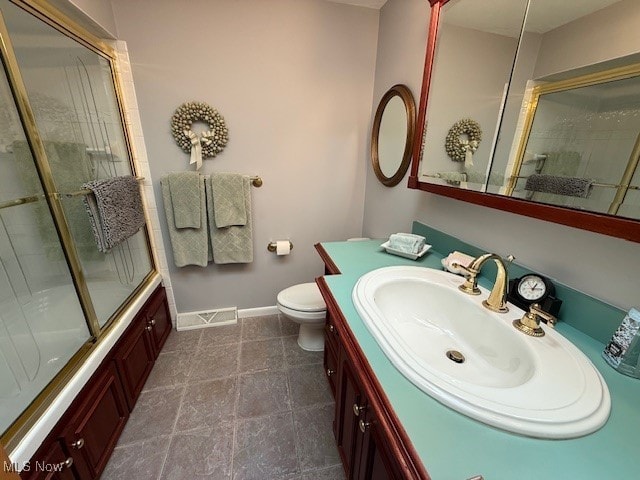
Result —
<instances>
[{"instance_id":1,"label":"reflection of gold-framed shower door in the large mirror","mask_svg":"<svg viewBox=\"0 0 640 480\"><path fill-rule=\"evenodd\" d=\"M530 89L499 193L613 215L624 205L640 218L640 204L627 198L640 188L631 183L640 159L639 75L636 64Z\"/></svg>"}]
</instances>

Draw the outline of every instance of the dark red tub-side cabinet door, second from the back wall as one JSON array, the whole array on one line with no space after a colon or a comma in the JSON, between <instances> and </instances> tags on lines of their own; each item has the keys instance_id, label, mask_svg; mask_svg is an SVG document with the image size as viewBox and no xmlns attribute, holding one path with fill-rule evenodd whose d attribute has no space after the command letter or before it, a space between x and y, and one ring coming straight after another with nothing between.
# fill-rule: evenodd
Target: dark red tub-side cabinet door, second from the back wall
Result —
<instances>
[{"instance_id":1,"label":"dark red tub-side cabinet door, second from the back wall","mask_svg":"<svg viewBox=\"0 0 640 480\"><path fill-rule=\"evenodd\" d=\"M123 335L121 345L113 357L122 380L129 411L133 410L155 361L149 330L147 317L141 312Z\"/></svg>"}]
</instances>

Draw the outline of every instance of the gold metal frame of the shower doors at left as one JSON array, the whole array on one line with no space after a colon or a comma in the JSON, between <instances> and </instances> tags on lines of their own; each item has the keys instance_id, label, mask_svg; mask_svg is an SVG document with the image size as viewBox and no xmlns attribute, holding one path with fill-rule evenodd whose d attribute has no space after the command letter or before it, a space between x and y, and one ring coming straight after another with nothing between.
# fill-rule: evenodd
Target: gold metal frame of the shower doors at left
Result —
<instances>
[{"instance_id":1,"label":"gold metal frame of the shower doors at left","mask_svg":"<svg viewBox=\"0 0 640 480\"><path fill-rule=\"evenodd\" d=\"M102 58L109 62L111 70L111 79L114 86L116 103L120 114L120 122L122 124L124 139L126 143L126 149L129 156L129 164L133 175L136 175L136 168L133 162L133 150L131 147L131 132L129 131L128 124L124 116L124 103L122 95L122 87L120 81L120 75L117 68L116 53L115 50L81 26L77 25L70 18L53 8L44 0L10 0L15 5L19 6L23 10L31 13L41 21L47 23L51 27L63 35L75 40L84 47L100 55ZM58 372L54 379L40 392L36 399L25 409L25 411L16 419L16 421L7 429L7 431L0 437L0 443L5 446L8 451L11 451L21 438L28 432L28 430L34 426L40 416L48 408L55 397L62 391L67 382L71 379L73 374L85 363L89 355L94 351L96 345L98 345L102 338L108 334L112 328L118 323L118 320L122 317L123 312L127 307L137 298L139 293L144 290L149 284L152 283L157 275L157 268L154 262L151 242L149 239L148 230L145 227L145 240L147 245L147 251L149 252L149 260L151 262L151 270L137 286L137 288L129 295L129 297L120 305L120 307L113 312L109 320L101 328L98 317L96 315L91 296L87 287L87 282L82 271L80 263L80 257L75 247L71 231L69 229L69 223L65 217L60 192L56 190L53 175L45 153L42 138L38 132L38 128L35 121L33 110L30 106L27 89L22 79L20 69L16 60L16 56L12 47L11 38L4 22L2 12L0 12L0 56L7 75L7 80L11 88L11 92L16 103L20 121L24 129L27 142L33 154L33 158L36 164L36 170L42 188L44 190L45 198L49 209L51 211L53 221L58 232L60 242L64 251L64 255L71 272L73 284L78 295L82 311L85 316L85 321L89 327L89 331L92 335L90 340L83 345L78 352L69 360L69 362ZM146 215L145 215L146 216ZM147 219L148 222L148 219ZM147 223L148 224L148 223Z\"/></svg>"}]
</instances>

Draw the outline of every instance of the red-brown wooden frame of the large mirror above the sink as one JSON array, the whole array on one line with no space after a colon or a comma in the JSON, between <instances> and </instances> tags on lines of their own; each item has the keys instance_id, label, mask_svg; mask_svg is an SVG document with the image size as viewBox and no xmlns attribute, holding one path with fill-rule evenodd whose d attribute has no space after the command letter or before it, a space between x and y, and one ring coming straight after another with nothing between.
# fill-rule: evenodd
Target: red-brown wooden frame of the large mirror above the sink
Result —
<instances>
[{"instance_id":1,"label":"red-brown wooden frame of the large mirror above the sink","mask_svg":"<svg viewBox=\"0 0 640 480\"><path fill-rule=\"evenodd\" d=\"M422 90L418 110L417 129L413 144L413 160L409 174L408 187L424 192L435 193L464 202L474 203L505 212L516 213L539 220L558 223L569 227L588 230L591 232L622 238L632 242L640 242L640 220L626 217L616 217L602 213L575 210L546 203L537 203L526 199L512 198L495 193L463 190L446 185L435 185L419 181L420 157L423 150L423 138L427 124L427 101L429 85L433 73L433 61L436 52L436 40L442 6L449 0L429 0L431 4L431 18L427 35L427 50L422 77Z\"/></svg>"}]
</instances>

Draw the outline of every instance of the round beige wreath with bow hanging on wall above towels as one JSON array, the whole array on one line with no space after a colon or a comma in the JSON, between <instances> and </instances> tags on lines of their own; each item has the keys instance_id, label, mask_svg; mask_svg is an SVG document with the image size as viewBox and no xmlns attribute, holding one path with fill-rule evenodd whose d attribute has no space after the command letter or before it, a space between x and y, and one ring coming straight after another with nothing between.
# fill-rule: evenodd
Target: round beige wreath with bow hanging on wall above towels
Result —
<instances>
[{"instance_id":1,"label":"round beige wreath with bow hanging on wall above towels","mask_svg":"<svg viewBox=\"0 0 640 480\"><path fill-rule=\"evenodd\" d=\"M200 135L194 133L191 125L196 121L206 123L209 129ZM197 169L200 169L203 158L218 155L229 140L224 117L204 102L180 105L171 117L171 133L178 146L191 153L191 163L197 163Z\"/></svg>"}]
</instances>

